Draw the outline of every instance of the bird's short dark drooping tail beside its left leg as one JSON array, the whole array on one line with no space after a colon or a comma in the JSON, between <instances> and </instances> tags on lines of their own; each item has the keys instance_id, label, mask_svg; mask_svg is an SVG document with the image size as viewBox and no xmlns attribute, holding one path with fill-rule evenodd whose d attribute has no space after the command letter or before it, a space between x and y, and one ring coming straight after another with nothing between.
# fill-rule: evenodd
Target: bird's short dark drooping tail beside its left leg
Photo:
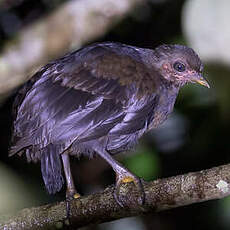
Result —
<instances>
[{"instance_id":1,"label":"bird's short dark drooping tail beside its left leg","mask_svg":"<svg viewBox=\"0 0 230 230\"><path fill-rule=\"evenodd\" d=\"M55 145L49 144L41 153L41 171L46 189L50 194L59 192L64 183L60 154Z\"/></svg>"}]
</instances>

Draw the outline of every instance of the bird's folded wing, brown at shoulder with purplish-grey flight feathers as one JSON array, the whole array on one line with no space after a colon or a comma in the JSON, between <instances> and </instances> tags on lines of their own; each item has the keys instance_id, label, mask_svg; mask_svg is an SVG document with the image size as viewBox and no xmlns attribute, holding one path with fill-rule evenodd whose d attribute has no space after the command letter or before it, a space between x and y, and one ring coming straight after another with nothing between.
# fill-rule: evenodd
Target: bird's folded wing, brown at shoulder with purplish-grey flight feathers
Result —
<instances>
[{"instance_id":1,"label":"bird's folded wing, brown at shoulder with purplish-grey flight feathers","mask_svg":"<svg viewBox=\"0 0 230 230\"><path fill-rule=\"evenodd\" d=\"M138 82L150 73L136 50L109 46L89 46L54 61L20 90L12 154L31 145L70 145L96 128L96 136L103 136L122 122Z\"/></svg>"}]
</instances>

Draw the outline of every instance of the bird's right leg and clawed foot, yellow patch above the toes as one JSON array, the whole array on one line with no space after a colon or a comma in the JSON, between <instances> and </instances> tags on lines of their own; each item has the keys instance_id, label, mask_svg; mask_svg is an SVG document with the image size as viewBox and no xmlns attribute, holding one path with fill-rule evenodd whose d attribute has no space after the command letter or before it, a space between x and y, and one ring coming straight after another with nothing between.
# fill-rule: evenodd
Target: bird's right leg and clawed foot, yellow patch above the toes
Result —
<instances>
[{"instance_id":1,"label":"bird's right leg and clawed foot, yellow patch above the toes","mask_svg":"<svg viewBox=\"0 0 230 230\"><path fill-rule=\"evenodd\" d=\"M138 198L137 198L138 204L143 205L145 199L145 193L140 178L138 178L137 176L132 174L128 169L122 166L107 151L101 150L101 151L97 151L97 153L112 166L113 170L116 173L116 189L114 192L114 197L117 203L121 207L124 207L125 200L122 199L122 195L121 195L122 184L134 183L138 192Z\"/></svg>"}]
</instances>

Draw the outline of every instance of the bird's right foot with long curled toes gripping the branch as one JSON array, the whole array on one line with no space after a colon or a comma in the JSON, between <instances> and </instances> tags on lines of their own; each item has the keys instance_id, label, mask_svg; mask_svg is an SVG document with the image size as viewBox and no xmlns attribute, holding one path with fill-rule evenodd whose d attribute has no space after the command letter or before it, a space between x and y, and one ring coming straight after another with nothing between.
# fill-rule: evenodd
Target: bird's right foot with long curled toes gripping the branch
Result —
<instances>
[{"instance_id":1,"label":"bird's right foot with long curled toes gripping the branch","mask_svg":"<svg viewBox=\"0 0 230 230\"><path fill-rule=\"evenodd\" d=\"M121 207L136 208L137 206L143 206L145 193L140 178L126 170L117 173L114 198Z\"/></svg>"}]
</instances>

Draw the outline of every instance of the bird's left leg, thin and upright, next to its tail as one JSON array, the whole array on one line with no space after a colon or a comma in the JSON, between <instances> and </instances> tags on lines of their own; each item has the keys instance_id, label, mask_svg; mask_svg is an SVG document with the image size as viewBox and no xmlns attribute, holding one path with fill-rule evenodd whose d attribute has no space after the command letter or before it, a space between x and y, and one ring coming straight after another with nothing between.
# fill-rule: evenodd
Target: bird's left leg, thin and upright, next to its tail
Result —
<instances>
[{"instance_id":1,"label":"bird's left leg, thin and upright, next to its tail","mask_svg":"<svg viewBox=\"0 0 230 230\"><path fill-rule=\"evenodd\" d=\"M66 210L67 210L67 218L69 217L70 213L70 201L73 199L77 199L80 197L80 194L77 193L77 190L74 186L73 177L70 170L70 162L69 162L69 155L67 152L63 153L61 155L62 157L62 163L65 173L65 179L66 179Z\"/></svg>"}]
</instances>

